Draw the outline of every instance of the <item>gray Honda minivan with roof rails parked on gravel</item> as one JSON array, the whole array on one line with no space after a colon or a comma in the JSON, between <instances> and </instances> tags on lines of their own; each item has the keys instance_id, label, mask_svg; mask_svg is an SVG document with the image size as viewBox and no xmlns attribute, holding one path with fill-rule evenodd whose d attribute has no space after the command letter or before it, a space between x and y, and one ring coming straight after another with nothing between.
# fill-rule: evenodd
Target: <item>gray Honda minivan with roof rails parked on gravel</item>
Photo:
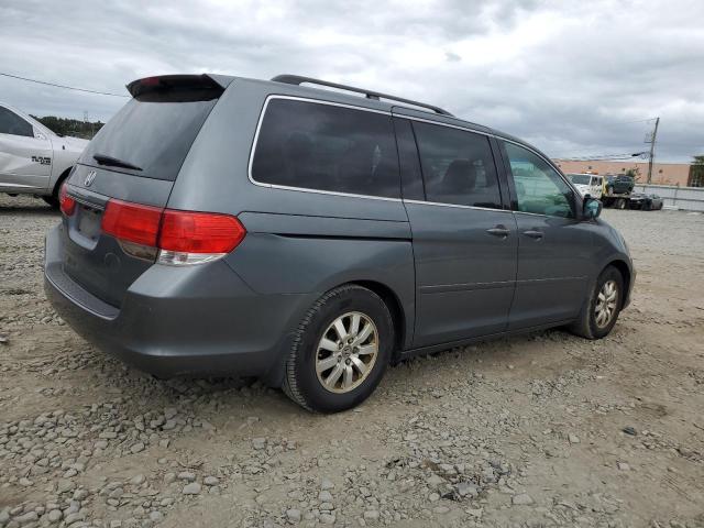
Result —
<instances>
[{"instance_id":1,"label":"gray Honda minivan with roof rails parked on gravel","mask_svg":"<svg viewBox=\"0 0 704 528\"><path fill-rule=\"evenodd\" d=\"M399 359L557 326L598 339L628 304L601 204L516 138L298 76L128 89L62 188L45 285L141 370L258 376L338 411Z\"/></svg>"}]
</instances>

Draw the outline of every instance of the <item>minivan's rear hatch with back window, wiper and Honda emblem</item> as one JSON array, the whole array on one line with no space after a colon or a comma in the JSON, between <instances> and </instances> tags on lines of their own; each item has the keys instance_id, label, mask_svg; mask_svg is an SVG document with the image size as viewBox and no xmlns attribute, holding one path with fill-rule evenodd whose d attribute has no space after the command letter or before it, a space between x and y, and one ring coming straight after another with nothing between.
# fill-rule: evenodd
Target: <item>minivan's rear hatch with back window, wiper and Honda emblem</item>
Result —
<instances>
[{"instance_id":1,"label":"minivan's rear hatch with back window, wiper and Honda emblem","mask_svg":"<svg viewBox=\"0 0 704 528\"><path fill-rule=\"evenodd\" d=\"M105 302L120 307L125 290L156 257L147 243L125 244L107 234L107 208L129 202L158 211L166 206L226 87L221 78L205 75L136 80L128 85L132 99L81 155L63 190L64 272Z\"/></svg>"}]
</instances>

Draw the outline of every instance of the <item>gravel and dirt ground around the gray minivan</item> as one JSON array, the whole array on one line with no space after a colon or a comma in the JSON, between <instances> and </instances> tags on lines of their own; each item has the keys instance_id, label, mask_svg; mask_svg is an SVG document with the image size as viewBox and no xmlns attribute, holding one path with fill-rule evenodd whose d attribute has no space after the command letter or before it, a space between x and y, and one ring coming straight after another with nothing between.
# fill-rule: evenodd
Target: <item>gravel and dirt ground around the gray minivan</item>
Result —
<instances>
[{"instance_id":1,"label":"gravel and dirt ground around the gray minivan","mask_svg":"<svg viewBox=\"0 0 704 528\"><path fill-rule=\"evenodd\" d=\"M94 350L42 290L58 216L0 195L0 528L704 527L704 216L604 216L638 268L608 338L417 359L316 416Z\"/></svg>"}]
</instances>

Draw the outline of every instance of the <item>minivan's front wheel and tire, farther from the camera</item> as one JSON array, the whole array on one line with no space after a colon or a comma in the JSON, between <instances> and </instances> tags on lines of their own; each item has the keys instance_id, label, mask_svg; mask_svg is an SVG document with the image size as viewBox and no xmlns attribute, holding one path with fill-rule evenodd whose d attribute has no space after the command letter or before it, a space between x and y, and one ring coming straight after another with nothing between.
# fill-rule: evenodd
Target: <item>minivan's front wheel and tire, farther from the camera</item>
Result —
<instances>
[{"instance_id":1,"label":"minivan's front wheel and tire, farther from the camera","mask_svg":"<svg viewBox=\"0 0 704 528\"><path fill-rule=\"evenodd\" d=\"M576 321L568 327L575 336L602 339L612 331L624 299L624 277L614 266L606 266L584 301Z\"/></svg>"}]
</instances>

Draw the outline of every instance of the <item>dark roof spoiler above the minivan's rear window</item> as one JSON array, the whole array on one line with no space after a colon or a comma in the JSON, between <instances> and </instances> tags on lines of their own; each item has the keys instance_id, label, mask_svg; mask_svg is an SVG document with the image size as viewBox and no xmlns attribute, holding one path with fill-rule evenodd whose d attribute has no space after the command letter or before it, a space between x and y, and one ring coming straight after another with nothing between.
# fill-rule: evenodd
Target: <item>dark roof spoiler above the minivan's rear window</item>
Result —
<instances>
[{"instance_id":1,"label":"dark roof spoiler above the minivan's rear window","mask_svg":"<svg viewBox=\"0 0 704 528\"><path fill-rule=\"evenodd\" d=\"M127 89L135 99L170 100L179 95L184 100L202 100L217 99L231 81L231 77L221 75L160 75L133 80ZM186 94L196 96L196 99L186 97Z\"/></svg>"}]
</instances>

